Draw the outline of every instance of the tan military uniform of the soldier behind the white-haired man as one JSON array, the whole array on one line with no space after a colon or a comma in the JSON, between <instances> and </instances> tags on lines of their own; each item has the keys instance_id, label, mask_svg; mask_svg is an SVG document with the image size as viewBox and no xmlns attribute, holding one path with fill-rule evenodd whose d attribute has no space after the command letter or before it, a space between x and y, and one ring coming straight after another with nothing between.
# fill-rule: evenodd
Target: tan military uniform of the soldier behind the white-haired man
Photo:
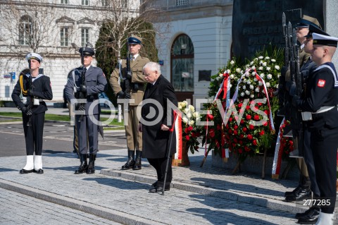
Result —
<instances>
[{"instance_id":1,"label":"tan military uniform of the soldier behind the white-haired man","mask_svg":"<svg viewBox=\"0 0 338 225\"><path fill-rule=\"evenodd\" d=\"M144 95L144 87L146 84L146 80L143 75L143 66L149 63L149 59L142 56L137 56L136 59L130 60L130 71L132 71L132 78L130 80L130 96L134 99L133 103L129 104L128 110L128 125L125 126L125 135L127 137L127 148L128 148L128 157L132 161L134 161L134 151L136 153L139 152L137 158L139 158L139 169L140 169L140 160L142 152L142 133L138 131L139 119L137 118L137 106L140 102L142 102ZM127 73L127 60L123 59L121 63L121 70L123 77L125 77ZM118 95L122 88L120 87L120 83L118 79L120 77L119 69L115 68L113 73L111 73L111 78L109 79L109 83L113 89L115 95ZM129 161L128 161L129 162ZM134 164L134 162L132 162ZM127 167L132 167L132 164ZM130 169L126 168L126 169ZM132 167L135 169L135 166ZM123 167L125 169L125 167Z\"/></svg>"}]
</instances>

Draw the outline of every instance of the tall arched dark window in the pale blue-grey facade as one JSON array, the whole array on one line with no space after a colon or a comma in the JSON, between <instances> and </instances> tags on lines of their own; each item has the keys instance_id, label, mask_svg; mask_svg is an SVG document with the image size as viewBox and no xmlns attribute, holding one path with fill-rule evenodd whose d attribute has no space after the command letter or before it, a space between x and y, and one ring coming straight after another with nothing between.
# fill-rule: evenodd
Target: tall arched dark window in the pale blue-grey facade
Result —
<instances>
[{"instance_id":1,"label":"tall arched dark window in the pale blue-grey facade","mask_svg":"<svg viewBox=\"0 0 338 225\"><path fill-rule=\"evenodd\" d=\"M179 101L192 99L194 93L194 46L187 35L179 35L170 52L171 83Z\"/></svg>"}]
</instances>

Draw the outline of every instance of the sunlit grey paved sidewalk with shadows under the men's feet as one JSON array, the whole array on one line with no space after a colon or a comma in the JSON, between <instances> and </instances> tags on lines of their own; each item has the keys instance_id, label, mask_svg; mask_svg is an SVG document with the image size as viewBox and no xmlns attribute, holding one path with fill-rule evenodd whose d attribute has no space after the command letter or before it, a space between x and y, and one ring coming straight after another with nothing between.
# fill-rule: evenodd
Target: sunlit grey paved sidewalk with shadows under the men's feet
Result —
<instances>
[{"instance_id":1,"label":"sunlit grey paved sidewalk with shadows under the men's feet","mask_svg":"<svg viewBox=\"0 0 338 225\"><path fill-rule=\"evenodd\" d=\"M44 154L45 174L20 175L25 157L2 157L0 195L12 190L122 224L295 224L294 213L304 210L282 202L295 181L232 176L211 167L211 157L199 168L201 153L190 156L190 167L173 168L164 196L148 193L155 170L144 161L140 171L120 171L125 152L100 151L92 175L74 174L72 153Z\"/></svg>"}]
</instances>

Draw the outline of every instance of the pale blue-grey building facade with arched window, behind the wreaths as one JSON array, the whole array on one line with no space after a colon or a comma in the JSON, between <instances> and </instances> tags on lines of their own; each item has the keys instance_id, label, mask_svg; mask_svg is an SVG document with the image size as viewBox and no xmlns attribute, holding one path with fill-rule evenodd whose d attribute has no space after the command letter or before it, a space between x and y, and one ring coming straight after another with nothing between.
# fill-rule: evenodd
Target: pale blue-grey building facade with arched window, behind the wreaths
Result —
<instances>
[{"instance_id":1,"label":"pale blue-grey building facade with arched window, behind the wreaths","mask_svg":"<svg viewBox=\"0 0 338 225\"><path fill-rule=\"evenodd\" d=\"M231 56L232 0L158 0L168 22L155 23L161 72L182 101L204 99L210 76ZM162 30L161 30L162 29ZM165 29L165 30L163 30Z\"/></svg>"}]
</instances>

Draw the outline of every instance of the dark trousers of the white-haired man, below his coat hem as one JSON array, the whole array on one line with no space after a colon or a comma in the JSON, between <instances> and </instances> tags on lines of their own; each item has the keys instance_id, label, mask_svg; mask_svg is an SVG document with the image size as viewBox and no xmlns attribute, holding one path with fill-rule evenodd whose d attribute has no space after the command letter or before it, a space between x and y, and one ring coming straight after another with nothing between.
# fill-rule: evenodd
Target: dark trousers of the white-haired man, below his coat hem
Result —
<instances>
[{"instance_id":1,"label":"dark trousers of the white-haired man, below his coat hem","mask_svg":"<svg viewBox=\"0 0 338 225\"><path fill-rule=\"evenodd\" d=\"M168 158L148 159L149 164L156 169L158 185L161 186L164 183L165 166L167 165ZM168 174L165 182L165 186L170 186L173 180L173 169L171 167L172 157L169 158ZM167 184L168 183L168 184Z\"/></svg>"}]
</instances>

